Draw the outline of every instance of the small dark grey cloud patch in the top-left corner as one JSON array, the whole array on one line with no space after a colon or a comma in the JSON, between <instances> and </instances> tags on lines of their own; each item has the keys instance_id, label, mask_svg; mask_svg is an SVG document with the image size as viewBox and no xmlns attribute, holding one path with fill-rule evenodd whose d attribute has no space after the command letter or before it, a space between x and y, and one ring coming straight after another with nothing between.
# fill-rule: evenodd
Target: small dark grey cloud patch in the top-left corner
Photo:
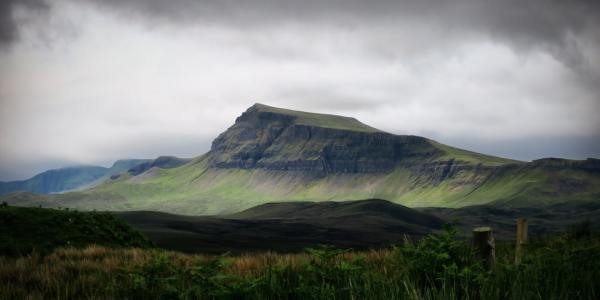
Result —
<instances>
[{"instance_id":1,"label":"small dark grey cloud patch in the top-left corner","mask_svg":"<svg viewBox=\"0 0 600 300\"><path fill-rule=\"evenodd\" d=\"M0 50L19 40L19 26L24 20L16 16L18 9L46 14L50 7L43 0L2 0L0 1Z\"/></svg>"}]
</instances>

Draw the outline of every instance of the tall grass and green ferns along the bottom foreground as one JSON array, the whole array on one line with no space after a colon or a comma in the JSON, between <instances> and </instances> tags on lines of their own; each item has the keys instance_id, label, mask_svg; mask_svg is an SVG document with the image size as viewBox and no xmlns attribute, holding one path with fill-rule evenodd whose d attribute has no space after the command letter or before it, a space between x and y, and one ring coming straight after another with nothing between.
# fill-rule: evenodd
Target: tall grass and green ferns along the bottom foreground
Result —
<instances>
[{"instance_id":1,"label":"tall grass and green ferns along the bottom foreground","mask_svg":"<svg viewBox=\"0 0 600 300\"><path fill-rule=\"evenodd\" d=\"M533 241L519 266L501 244L492 271L452 229L390 249L184 255L61 248L0 257L1 299L599 299L600 237Z\"/></svg>"}]
</instances>

